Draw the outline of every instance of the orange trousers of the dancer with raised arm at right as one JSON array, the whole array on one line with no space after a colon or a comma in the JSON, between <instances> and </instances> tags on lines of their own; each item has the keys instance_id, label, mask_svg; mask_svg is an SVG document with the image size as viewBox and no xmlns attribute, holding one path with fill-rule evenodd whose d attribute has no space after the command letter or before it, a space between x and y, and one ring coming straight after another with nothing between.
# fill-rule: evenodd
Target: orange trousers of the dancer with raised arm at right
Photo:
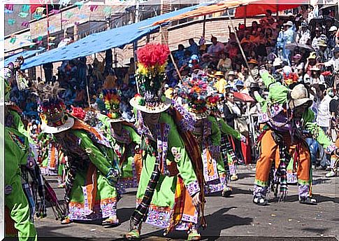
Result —
<instances>
[{"instance_id":1,"label":"orange trousers of the dancer with raised arm at right","mask_svg":"<svg viewBox=\"0 0 339 241\"><path fill-rule=\"evenodd\" d=\"M278 167L280 162L279 146L275 143L272 137L272 130L267 130L261 139L261 151L257 160L256 174L254 184L258 186L268 186L268 176L271 171L271 165L275 160L275 167ZM291 144L291 136L289 133L283 135L284 144L287 146L291 156L294 156L296 151L296 144ZM308 146L304 143L301 144L298 150L298 170L297 177L298 183L303 185L310 184L310 151ZM288 161L288 160L287 160Z\"/></svg>"}]
</instances>

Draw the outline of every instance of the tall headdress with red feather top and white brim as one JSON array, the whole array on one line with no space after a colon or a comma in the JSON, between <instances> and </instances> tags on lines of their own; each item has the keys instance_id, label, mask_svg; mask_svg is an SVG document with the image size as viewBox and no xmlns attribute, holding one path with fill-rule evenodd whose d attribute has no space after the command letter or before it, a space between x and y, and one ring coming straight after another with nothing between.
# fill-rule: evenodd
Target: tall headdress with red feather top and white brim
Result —
<instances>
[{"instance_id":1,"label":"tall headdress with red feather top and white brim","mask_svg":"<svg viewBox=\"0 0 339 241\"><path fill-rule=\"evenodd\" d=\"M163 90L169 54L168 46L159 43L148 43L138 49L138 94L131 99L131 106L146 113L160 113L171 106Z\"/></svg>"}]
</instances>

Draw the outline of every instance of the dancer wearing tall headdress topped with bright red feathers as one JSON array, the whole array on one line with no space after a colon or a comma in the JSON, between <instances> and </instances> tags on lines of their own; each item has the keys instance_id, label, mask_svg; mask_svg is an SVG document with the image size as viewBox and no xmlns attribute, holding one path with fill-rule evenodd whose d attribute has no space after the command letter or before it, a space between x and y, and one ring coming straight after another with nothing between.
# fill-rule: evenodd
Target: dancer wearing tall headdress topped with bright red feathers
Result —
<instances>
[{"instance_id":1,"label":"dancer wearing tall headdress topped with bright red feathers","mask_svg":"<svg viewBox=\"0 0 339 241\"><path fill-rule=\"evenodd\" d=\"M138 50L136 79L140 94L131 99L130 104L138 110L143 169L136 194L137 207L126 237L139 237L141 223L145 221L166 228L165 233L173 229L187 230L189 240L199 240L197 228L203 186L197 176L199 172L195 171L195 160L187 151L187 148L196 148L196 144L194 139L192 143L187 143L188 138L184 142L186 136L182 130L189 123L182 118L181 126L178 125L178 118L171 114L178 112L163 95L168 55L168 46L159 44L147 44ZM196 157L199 158L199 154Z\"/></svg>"}]
</instances>

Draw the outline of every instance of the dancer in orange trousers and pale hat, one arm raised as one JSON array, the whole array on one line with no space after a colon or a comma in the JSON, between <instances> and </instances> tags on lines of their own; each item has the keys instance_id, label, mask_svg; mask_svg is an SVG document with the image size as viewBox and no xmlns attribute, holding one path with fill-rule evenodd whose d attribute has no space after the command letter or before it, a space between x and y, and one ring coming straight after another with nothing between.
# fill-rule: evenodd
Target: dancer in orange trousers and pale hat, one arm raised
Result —
<instances>
[{"instance_id":1,"label":"dancer in orange trousers and pale hat, one arm raised","mask_svg":"<svg viewBox=\"0 0 339 241\"><path fill-rule=\"evenodd\" d=\"M295 85L292 90L268 74L266 69L260 70L261 78L269 90L267 101L262 112L259 113L259 123L264 132L259 137L260 156L257 160L256 177L254 181L253 202L257 205L267 205L269 173L275 160L275 167L279 170L280 200L287 196L287 153L293 155L297 151L298 163L298 196L299 202L307 205L316 205L312 198L310 184L310 151L305 143L305 137L314 137L324 146L328 153L336 149L335 145L326 137L323 130L317 126L313 111L310 109L312 99L303 84ZM259 96L258 92L254 96ZM298 149L296 149L298 146ZM279 155L280 158L276 158Z\"/></svg>"}]
</instances>

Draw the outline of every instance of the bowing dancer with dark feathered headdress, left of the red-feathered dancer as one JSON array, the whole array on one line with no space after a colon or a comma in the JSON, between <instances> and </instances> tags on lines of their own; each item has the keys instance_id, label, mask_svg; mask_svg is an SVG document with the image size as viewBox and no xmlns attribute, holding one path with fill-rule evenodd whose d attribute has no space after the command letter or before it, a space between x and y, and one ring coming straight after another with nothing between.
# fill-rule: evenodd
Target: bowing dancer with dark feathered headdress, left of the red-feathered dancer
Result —
<instances>
[{"instance_id":1,"label":"bowing dancer with dark feathered headdress, left of the red-feathered dancer","mask_svg":"<svg viewBox=\"0 0 339 241\"><path fill-rule=\"evenodd\" d=\"M59 99L59 83L36 86L39 95L41 130L55 136L68 157L65 200L71 221L104 220L117 225L117 157L100 132L78 118L65 113Z\"/></svg>"}]
</instances>

